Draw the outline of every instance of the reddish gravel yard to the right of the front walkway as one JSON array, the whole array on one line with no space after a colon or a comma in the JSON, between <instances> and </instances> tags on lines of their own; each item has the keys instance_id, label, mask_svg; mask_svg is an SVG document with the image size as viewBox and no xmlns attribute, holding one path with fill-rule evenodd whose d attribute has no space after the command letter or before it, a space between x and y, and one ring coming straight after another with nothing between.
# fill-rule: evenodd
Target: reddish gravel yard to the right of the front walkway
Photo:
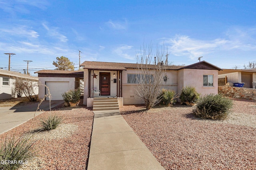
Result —
<instances>
[{"instance_id":1,"label":"reddish gravel yard to the right of the front walkway","mask_svg":"<svg viewBox=\"0 0 256 170\"><path fill-rule=\"evenodd\" d=\"M256 169L256 102L234 100L224 121L203 120L191 106L124 106L122 116L166 169Z\"/></svg>"}]
</instances>

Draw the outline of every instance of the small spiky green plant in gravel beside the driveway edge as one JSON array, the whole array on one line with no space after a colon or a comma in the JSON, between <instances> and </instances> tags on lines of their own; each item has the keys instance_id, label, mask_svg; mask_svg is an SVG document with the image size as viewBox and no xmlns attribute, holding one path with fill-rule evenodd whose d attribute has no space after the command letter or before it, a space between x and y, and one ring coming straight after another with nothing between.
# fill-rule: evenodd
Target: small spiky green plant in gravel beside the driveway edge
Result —
<instances>
[{"instance_id":1,"label":"small spiky green plant in gravel beside the driveway edge","mask_svg":"<svg viewBox=\"0 0 256 170\"><path fill-rule=\"evenodd\" d=\"M41 126L43 131L50 131L56 129L63 121L63 117L60 115L50 115L46 119L41 120Z\"/></svg>"}]
</instances>

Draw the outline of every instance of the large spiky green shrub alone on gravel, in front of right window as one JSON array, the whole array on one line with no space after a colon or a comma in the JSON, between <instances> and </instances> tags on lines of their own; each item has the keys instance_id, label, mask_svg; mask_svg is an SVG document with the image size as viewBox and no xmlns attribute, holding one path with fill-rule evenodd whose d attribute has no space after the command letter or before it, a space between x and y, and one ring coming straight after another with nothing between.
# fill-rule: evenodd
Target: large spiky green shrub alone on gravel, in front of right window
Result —
<instances>
[{"instance_id":1,"label":"large spiky green shrub alone on gravel, in front of right window","mask_svg":"<svg viewBox=\"0 0 256 170\"><path fill-rule=\"evenodd\" d=\"M193 114L205 119L225 119L232 105L232 100L220 94L208 94L197 100Z\"/></svg>"}]
</instances>

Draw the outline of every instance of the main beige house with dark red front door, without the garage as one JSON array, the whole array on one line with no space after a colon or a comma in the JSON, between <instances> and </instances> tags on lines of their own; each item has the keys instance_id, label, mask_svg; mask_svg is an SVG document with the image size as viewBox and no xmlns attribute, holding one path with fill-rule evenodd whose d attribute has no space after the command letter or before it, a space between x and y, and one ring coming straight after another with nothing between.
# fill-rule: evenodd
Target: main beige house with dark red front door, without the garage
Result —
<instances>
[{"instance_id":1,"label":"main beige house with dark red front door, without the garage","mask_svg":"<svg viewBox=\"0 0 256 170\"><path fill-rule=\"evenodd\" d=\"M119 104L142 104L136 94L136 68L132 63L85 61L84 105L92 106L93 98L118 97ZM218 71L222 70L206 61L189 66L166 66L163 88L180 94L184 86L194 86L202 94L218 94ZM164 77L163 77L164 78Z\"/></svg>"}]
</instances>

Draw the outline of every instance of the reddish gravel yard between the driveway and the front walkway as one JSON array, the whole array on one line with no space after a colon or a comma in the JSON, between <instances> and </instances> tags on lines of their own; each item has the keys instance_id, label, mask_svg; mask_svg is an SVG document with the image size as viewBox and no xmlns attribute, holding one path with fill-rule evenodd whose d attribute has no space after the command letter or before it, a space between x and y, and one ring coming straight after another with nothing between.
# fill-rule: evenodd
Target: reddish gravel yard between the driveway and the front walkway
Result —
<instances>
[{"instance_id":1,"label":"reddish gravel yard between the driveway and the front walkway","mask_svg":"<svg viewBox=\"0 0 256 170\"><path fill-rule=\"evenodd\" d=\"M77 108L58 107L52 114L64 116L64 122L52 131L32 133L32 139L38 140L39 156L28 161L25 169L85 169L88 158L89 144L92 133L94 114L80 105ZM0 135L0 142L6 137L16 137L29 133L30 128L39 128L40 119L50 114L46 111L34 119Z\"/></svg>"}]
</instances>

